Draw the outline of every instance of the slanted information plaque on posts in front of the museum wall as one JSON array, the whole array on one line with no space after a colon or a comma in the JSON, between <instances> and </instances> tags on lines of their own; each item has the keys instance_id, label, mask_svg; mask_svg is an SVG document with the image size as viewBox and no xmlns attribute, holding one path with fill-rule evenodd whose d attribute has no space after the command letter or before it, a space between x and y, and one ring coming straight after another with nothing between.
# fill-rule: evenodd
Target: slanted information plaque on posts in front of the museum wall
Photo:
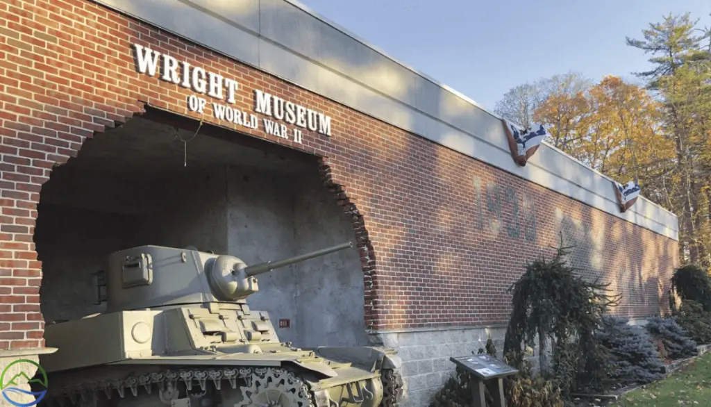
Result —
<instances>
[{"instance_id":1,"label":"slanted information plaque on posts in front of the museum wall","mask_svg":"<svg viewBox=\"0 0 711 407\"><path fill-rule=\"evenodd\" d=\"M503 393L503 378L518 373L508 364L503 363L488 354L476 354L471 356L451 357L450 361L471 373L471 398L472 407L486 407L486 382L496 381L495 386L491 386L491 396L493 396L494 407L506 407L506 396Z\"/></svg>"}]
</instances>

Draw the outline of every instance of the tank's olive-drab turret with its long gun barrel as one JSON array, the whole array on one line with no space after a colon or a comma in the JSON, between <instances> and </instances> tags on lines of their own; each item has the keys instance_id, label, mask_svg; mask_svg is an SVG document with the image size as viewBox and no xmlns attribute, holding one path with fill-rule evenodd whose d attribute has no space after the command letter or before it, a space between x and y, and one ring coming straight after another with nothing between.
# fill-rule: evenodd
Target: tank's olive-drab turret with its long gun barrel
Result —
<instances>
[{"instance_id":1,"label":"tank's olive-drab turret with its long gun barrel","mask_svg":"<svg viewBox=\"0 0 711 407\"><path fill-rule=\"evenodd\" d=\"M232 255L146 245L109 256L106 312L152 309L206 302L244 302L259 291L257 275L311 258L352 248L351 242L278 261L247 265ZM101 281L105 280L105 284Z\"/></svg>"}]
</instances>

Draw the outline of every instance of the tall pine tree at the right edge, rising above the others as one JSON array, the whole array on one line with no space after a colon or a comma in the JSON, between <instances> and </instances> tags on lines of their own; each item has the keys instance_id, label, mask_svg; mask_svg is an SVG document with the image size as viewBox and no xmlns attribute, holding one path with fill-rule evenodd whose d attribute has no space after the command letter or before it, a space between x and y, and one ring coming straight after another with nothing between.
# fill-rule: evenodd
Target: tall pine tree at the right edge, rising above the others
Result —
<instances>
[{"instance_id":1,"label":"tall pine tree at the right edge, rising above the others","mask_svg":"<svg viewBox=\"0 0 711 407\"><path fill-rule=\"evenodd\" d=\"M663 129L675 145L675 163L665 174L665 201L679 217L680 258L711 263L711 66L690 14L668 15L629 46L651 53L654 67L638 73L663 102ZM688 255L687 255L688 253Z\"/></svg>"}]
</instances>

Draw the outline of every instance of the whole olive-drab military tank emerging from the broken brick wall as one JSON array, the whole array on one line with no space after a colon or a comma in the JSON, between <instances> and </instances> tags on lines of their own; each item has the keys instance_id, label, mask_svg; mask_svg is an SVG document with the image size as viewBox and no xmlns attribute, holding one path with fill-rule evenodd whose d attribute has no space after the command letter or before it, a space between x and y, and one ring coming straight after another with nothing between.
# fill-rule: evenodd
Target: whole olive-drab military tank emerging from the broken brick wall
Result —
<instances>
[{"instance_id":1,"label":"whole olive-drab military tank emerging from the broken brick wall","mask_svg":"<svg viewBox=\"0 0 711 407\"><path fill-rule=\"evenodd\" d=\"M301 349L250 310L257 275L351 243L246 265L232 255L145 245L95 278L106 311L48 324L41 405L375 407L402 396L400 357L379 347Z\"/></svg>"}]
</instances>

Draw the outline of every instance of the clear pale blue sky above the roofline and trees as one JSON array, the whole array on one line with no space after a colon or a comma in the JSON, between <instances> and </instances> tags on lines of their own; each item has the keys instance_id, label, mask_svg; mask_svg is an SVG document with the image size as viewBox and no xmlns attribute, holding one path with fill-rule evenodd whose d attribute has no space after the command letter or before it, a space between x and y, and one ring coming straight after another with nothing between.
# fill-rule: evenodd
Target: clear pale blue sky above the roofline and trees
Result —
<instances>
[{"instance_id":1,"label":"clear pale blue sky above the roofline and trees","mask_svg":"<svg viewBox=\"0 0 711 407\"><path fill-rule=\"evenodd\" d=\"M300 1L489 110L516 85L570 70L636 80L648 56L625 36L670 12L711 26L710 0Z\"/></svg>"}]
</instances>

